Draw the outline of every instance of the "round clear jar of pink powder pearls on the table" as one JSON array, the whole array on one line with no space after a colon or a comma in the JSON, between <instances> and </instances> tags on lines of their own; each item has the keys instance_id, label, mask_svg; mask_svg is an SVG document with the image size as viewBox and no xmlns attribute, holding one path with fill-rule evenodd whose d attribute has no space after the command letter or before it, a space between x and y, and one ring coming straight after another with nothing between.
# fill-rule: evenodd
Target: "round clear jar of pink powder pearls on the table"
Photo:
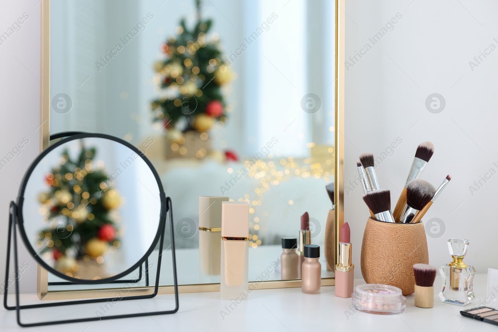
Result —
<instances>
[{"instance_id":1,"label":"round clear jar of pink powder pearls on the table","mask_svg":"<svg viewBox=\"0 0 498 332\"><path fill-rule=\"evenodd\" d=\"M381 284L356 286L351 302L357 310L379 315L399 314L406 307L401 289Z\"/></svg>"}]
</instances>

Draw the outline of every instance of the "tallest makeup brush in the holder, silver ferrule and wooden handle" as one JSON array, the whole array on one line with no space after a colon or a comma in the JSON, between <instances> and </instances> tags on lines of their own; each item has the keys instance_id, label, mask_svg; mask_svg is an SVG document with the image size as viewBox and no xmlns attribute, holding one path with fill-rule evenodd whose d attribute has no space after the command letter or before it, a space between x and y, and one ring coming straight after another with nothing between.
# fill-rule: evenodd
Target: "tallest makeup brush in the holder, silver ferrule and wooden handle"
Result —
<instances>
[{"instance_id":1,"label":"tallest makeup brush in the holder, silver ferrule and wooden handle","mask_svg":"<svg viewBox=\"0 0 498 332\"><path fill-rule=\"evenodd\" d=\"M396 207L394 208L394 212L392 214L394 216L394 220L399 220L403 207L406 204L406 186L408 186L410 181L418 179L420 175L422 175L425 166L427 166L427 163L433 154L434 144L431 142L426 141L418 145L417 151L415 151L415 158L413 158L413 162L411 164L410 173L408 174L408 178L406 178L405 186L399 195L398 202L396 203Z\"/></svg>"}]
</instances>

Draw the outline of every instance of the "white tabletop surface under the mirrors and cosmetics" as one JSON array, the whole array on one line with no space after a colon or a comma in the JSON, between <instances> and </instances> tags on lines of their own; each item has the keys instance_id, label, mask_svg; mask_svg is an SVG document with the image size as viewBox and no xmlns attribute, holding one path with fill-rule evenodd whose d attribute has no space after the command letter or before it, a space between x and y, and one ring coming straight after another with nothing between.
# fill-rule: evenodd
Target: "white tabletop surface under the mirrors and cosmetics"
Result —
<instances>
[{"instance_id":1,"label":"white tabletop surface under the mirrors and cosmetics","mask_svg":"<svg viewBox=\"0 0 498 332\"><path fill-rule=\"evenodd\" d=\"M347 315L347 311L353 313L349 308L351 299L335 297L334 286L327 286L322 287L320 295L303 294L300 288L255 290L247 301L243 301L238 307L232 306L234 310L224 318L221 311L228 312L225 306L230 305L230 301L221 300L219 292L180 294L180 309L173 315L40 326L38 329L28 330L17 326L14 311L1 310L0 331L497 331L495 325L473 321L460 315L460 310L471 309L485 301L486 277L476 275L474 289L477 298L464 308L439 300L437 293L441 281L438 276L434 308L415 307L414 296L409 295L406 298L406 311L399 315L382 316L363 312ZM364 281L355 280L355 286L361 283ZM154 299L122 301L111 308L109 315L170 309L173 298L172 295L158 295ZM22 299L33 300L35 297L23 294ZM98 305L85 306L86 313L95 317ZM493 304L490 307L494 307ZM81 307L77 308L80 309L75 306L58 307L51 309L50 313L45 309L24 310L21 318L33 323L50 315L56 315L56 319L67 319L76 311L82 312Z\"/></svg>"}]
</instances>

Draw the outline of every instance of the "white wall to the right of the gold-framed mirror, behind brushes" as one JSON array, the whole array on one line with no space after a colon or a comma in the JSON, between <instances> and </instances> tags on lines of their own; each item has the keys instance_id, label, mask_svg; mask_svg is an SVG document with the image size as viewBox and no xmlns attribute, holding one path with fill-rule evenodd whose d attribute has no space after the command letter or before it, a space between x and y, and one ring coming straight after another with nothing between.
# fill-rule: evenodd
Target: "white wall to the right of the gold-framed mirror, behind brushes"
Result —
<instances>
[{"instance_id":1,"label":"white wall to the right of the gold-framed mirror, behind brushes","mask_svg":"<svg viewBox=\"0 0 498 332\"><path fill-rule=\"evenodd\" d=\"M439 238L427 236L429 260L435 266L451 261L446 241L470 240L467 264L479 273L498 268L495 222L498 176L471 194L469 186L491 168L498 171L498 148L493 133L498 120L496 91L498 51L471 70L469 61L491 43L498 21L495 1L348 0L346 57L360 51L385 23L402 18L372 49L346 72L345 182L358 174L360 153L379 156L395 141L402 143L377 168L382 187L391 190L395 205L417 145L430 140L435 154L422 178L439 186L452 176L424 221L441 219L446 225ZM498 39L498 38L497 38ZM484 59L484 58L483 58ZM341 64L343 65L343 64ZM457 83L458 82L458 83ZM444 111L425 107L433 93L446 100ZM362 189L345 195L345 221L352 228L354 263L360 248L368 210ZM361 275L358 269L359 277Z\"/></svg>"}]
</instances>

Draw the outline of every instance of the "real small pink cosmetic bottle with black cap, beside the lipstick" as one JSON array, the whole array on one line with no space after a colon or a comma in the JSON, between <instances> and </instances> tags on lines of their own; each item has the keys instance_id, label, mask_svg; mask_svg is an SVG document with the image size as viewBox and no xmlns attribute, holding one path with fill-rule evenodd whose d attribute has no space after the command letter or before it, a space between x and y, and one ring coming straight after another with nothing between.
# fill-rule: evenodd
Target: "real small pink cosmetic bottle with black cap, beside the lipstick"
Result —
<instances>
[{"instance_id":1,"label":"real small pink cosmetic bottle with black cap, beside the lipstick","mask_svg":"<svg viewBox=\"0 0 498 332\"><path fill-rule=\"evenodd\" d=\"M320 246L306 244L304 246L304 262L301 266L302 280L301 291L306 294L320 294L322 283L322 264L320 258Z\"/></svg>"}]
</instances>

